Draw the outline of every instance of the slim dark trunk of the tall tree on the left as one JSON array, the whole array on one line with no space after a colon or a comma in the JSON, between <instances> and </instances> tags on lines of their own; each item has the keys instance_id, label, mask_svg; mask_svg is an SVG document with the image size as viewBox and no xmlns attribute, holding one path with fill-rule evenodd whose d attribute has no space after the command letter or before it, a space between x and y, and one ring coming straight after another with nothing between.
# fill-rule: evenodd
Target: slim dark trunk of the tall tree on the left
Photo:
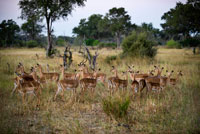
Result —
<instances>
[{"instance_id":1,"label":"slim dark trunk of the tall tree on the left","mask_svg":"<svg viewBox=\"0 0 200 134\"><path fill-rule=\"evenodd\" d=\"M50 57L52 51L50 19L46 19L46 21L47 21L47 43L48 43L46 50L46 57Z\"/></svg>"}]
</instances>

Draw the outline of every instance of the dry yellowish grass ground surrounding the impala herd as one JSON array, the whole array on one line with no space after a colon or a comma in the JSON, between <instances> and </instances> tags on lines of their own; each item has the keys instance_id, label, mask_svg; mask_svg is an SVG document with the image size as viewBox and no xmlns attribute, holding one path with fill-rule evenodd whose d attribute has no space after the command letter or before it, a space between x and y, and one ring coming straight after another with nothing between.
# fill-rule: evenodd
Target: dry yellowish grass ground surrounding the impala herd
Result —
<instances>
[{"instance_id":1,"label":"dry yellowish grass ground surrounding the impala herd","mask_svg":"<svg viewBox=\"0 0 200 134\"><path fill-rule=\"evenodd\" d=\"M63 53L64 48L58 48ZM83 58L73 48L73 69ZM147 72L153 65L163 66L176 72L182 70L183 77L176 86L164 91L151 92L142 96L134 95L130 86L126 92L117 92L110 97L107 87L99 83L92 95L87 91L78 93L65 91L64 100L60 96L53 101L57 89L49 83L42 89L41 105L35 107L36 99L29 95L25 105L21 96L13 89L14 70L19 62L29 72L31 66L40 63L46 71L59 71L62 58L46 59L43 49L2 49L0 50L0 132L1 133L200 133L200 55L193 55L190 49L159 48L155 59L125 58L106 62L107 56L117 55L120 50L101 49L98 67L107 77L112 76L111 65L119 72L127 69L126 64L135 65L136 70ZM35 54L39 55L39 59ZM8 70L7 63L10 64ZM70 69L70 72L73 72ZM163 73L165 74L165 72ZM77 100L75 101L75 97ZM122 118L108 116L103 109L104 100L123 101L129 99L127 114ZM117 104L116 104L117 105ZM113 111L115 112L115 111Z\"/></svg>"}]
</instances>

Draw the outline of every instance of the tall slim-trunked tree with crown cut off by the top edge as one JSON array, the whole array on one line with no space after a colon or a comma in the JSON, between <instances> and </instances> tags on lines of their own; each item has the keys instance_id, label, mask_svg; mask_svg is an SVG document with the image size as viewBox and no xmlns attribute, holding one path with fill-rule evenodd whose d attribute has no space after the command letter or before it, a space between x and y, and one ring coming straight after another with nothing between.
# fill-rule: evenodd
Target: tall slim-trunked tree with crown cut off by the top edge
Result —
<instances>
[{"instance_id":1,"label":"tall slim-trunked tree with crown cut off by the top edge","mask_svg":"<svg viewBox=\"0 0 200 134\"><path fill-rule=\"evenodd\" d=\"M21 18L39 16L46 20L48 46L46 56L52 53L52 23L60 18L67 18L76 5L83 6L86 0L20 0ZM31 17L32 18L32 17Z\"/></svg>"}]
</instances>

